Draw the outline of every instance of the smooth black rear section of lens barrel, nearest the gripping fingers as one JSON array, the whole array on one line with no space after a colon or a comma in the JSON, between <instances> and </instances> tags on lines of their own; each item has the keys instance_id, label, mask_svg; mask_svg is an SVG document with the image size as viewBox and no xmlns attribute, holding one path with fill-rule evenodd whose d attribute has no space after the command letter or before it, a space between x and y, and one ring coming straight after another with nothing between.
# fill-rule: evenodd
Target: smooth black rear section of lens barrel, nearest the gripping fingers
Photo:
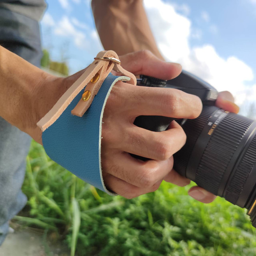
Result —
<instances>
[{"instance_id":1,"label":"smooth black rear section of lens barrel, nearest the gripping fingers","mask_svg":"<svg viewBox=\"0 0 256 256\"><path fill-rule=\"evenodd\" d=\"M194 148L203 127L208 121L209 117L219 108L206 107L202 110L201 115L197 119L187 120L182 126L187 135L187 141L183 148L174 155L174 169L182 176L186 176L187 162L189 160L191 151Z\"/></svg>"}]
</instances>

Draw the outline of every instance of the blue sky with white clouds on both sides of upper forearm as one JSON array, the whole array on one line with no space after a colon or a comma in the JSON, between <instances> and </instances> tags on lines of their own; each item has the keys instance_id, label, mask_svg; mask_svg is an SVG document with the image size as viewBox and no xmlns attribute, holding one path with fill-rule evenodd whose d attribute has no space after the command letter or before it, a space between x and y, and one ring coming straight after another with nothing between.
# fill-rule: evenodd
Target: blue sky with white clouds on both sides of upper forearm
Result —
<instances>
[{"instance_id":1,"label":"blue sky with white clouds on both sides of upper forearm","mask_svg":"<svg viewBox=\"0 0 256 256\"><path fill-rule=\"evenodd\" d=\"M47 1L43 47L70 71L86 67L102 50L90 0ZM180 62L239 105L256 102L256 0L144 0L162 55Z\"/></svg>"}]
</instances>

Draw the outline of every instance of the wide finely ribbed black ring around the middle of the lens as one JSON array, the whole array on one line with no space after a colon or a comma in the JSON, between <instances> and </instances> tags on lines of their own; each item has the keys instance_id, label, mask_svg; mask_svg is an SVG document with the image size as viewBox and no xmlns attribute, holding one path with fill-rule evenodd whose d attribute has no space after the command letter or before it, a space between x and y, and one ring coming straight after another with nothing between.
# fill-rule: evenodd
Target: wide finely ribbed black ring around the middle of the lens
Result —
<instances>
[{"instance_id":1,"label":"wide finely ribbed black ring around the middle of the lens","mask_svg":"<svg viewBox=\"0 0 256 256\"><path fill-rule=\"evenodd\" d=\"M213 132L199 162L195 182L218 195L222 178L252 120L229 113Z\"/></svg>"}]
</instances>

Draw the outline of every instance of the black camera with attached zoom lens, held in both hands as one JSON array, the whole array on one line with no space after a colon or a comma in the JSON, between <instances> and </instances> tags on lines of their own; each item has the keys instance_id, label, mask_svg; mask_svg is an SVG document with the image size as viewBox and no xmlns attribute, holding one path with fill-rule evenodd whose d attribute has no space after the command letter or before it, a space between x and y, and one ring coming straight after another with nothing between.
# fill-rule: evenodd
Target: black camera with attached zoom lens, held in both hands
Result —
<instances>
[{"instance_id":1,"label":"black camera with attached zoom lens, held in both hands","mask_svg":"<svg viewBox=\"0 0 256 256\"><path fill-rule=\"evenodd\" d=\"M168 81L141 76L137 85L174 88L200 97L203 110L198 118L176 120L187 141L173 155L174 169L214 195L248 209L252 226L256 227L256 122L214 106L217 90L186 71ZM134 124L161 132L173 120L138 116Z\"/></svg>"}]
</instances>

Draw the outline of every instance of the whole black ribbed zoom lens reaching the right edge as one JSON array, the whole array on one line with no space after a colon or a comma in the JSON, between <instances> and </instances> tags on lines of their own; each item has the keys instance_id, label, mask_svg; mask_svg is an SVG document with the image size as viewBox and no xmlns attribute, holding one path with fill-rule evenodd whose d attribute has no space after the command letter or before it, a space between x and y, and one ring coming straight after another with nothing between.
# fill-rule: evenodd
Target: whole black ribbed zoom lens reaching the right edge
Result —
<instances>
[{"instance_id":1,"label":"whole black ribbed zoom lens reaching the right edge","mask_svg":"<svg viewBox=\"0 0 256 256\"><path fill-rule=\"evenodd\" d=\"M174 169L214 195L248 209L256 227L256 122L206 106L186 120L184 147L174 155Z\"/></svg>"}]
</instances>

